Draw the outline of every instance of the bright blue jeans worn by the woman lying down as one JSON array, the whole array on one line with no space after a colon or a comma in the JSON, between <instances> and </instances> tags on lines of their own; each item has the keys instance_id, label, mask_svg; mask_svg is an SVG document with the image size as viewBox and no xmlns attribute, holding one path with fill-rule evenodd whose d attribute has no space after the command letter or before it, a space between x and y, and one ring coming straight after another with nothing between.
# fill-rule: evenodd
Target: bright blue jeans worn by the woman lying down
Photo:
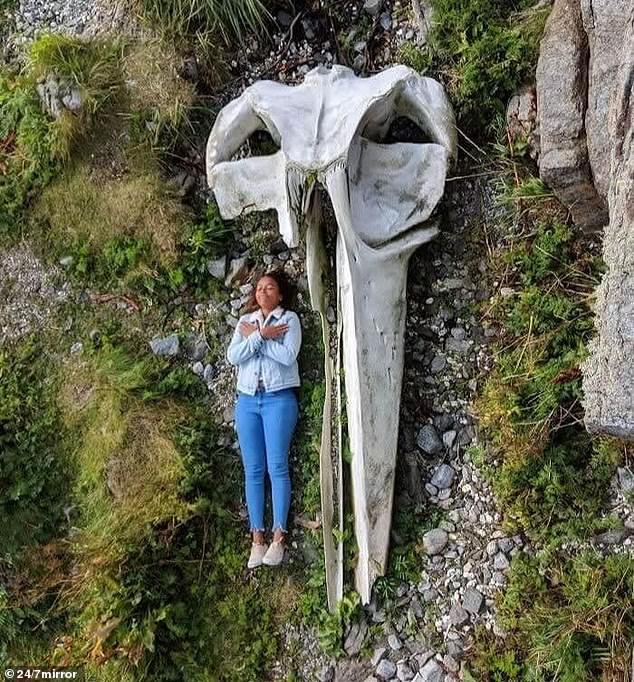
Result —
<instances>
[{"instance_id":1,"label":"bright blue jeans worn by the woman lying down","mask_svg":"<svg viewBox=\"0 0 634 682\"><path fill-rule=\"evenodd\" d=\"M288 451L297 424L292 388L255 395L238 392L236 429L244 464L251 530L264 530L264 474L268 469L273 498L273 530L285 531L291 503Z\"/></svg>"}]
</instances>

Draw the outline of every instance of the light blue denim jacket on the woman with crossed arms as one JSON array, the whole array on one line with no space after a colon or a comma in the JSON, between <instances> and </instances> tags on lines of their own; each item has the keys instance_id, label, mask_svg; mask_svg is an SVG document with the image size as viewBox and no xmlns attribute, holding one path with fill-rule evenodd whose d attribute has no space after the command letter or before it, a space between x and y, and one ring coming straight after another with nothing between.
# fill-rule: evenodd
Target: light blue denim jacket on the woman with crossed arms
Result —
<instances>
[{"instance_id":1,"label":"light blue denim jacket on the woman with crossed arms","mask_svg":"<svg viewBox=\"0 0 634 682\"><path fill-rule=\"evenodd\" d=\"M288 324L288 330L277 339L265 339L259 330L245 337L240 333L241 322L257 323L259 327ZM301 343L299 317L292 310L278 306L266 320L259 309L242 315L227 349L227 360L238 367L238 391L255 395L258 376L267 391L299 386L297 354Z\"/></svg>"}]
</instances>

